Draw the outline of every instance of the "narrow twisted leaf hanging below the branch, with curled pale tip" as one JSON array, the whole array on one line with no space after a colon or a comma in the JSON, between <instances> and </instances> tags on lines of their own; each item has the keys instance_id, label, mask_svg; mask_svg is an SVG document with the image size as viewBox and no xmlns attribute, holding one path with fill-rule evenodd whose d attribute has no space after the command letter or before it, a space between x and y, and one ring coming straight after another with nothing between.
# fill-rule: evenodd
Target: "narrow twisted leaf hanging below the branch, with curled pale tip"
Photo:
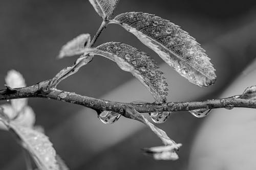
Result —
<instances>
[{"instance_id":1,"label":"narrow twisted leaf hanging below the branch, with curled pale tip","mask_svg":"<svg viewBox=\"0 0 256 170\"><path fill-rule=\"evenodd\" d=\"M179 149L182 144L176 143L174 140L170 139L167 134L150 123L142 114L137 112L133 107L126 106L123 116L131 119L138 120L139 122L148 126L164 143L164 147L154 147L149 149L144 149L144 151L151 151L155 159L157 160L176 160L178 155L175 153L174 149Z\"/></svg>"}]
</instances>

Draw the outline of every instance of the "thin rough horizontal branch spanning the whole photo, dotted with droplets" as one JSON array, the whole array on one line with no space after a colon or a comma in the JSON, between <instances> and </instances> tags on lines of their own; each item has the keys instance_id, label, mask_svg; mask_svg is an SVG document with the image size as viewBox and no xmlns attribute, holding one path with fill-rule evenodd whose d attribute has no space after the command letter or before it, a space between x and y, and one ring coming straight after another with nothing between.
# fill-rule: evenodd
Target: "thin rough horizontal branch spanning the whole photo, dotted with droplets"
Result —
<instances>
[{"instance_id":1,"label":"thin rough horizontal branch spanning the whole photo, dotted with droplets","mask_svg":"<svg viewBox=\"0 0 256 170\"><path fill-rule=\"evenodd\" d=\"M15 88L15 90L0 90L0 101L11 100L18 98L47 98L59 100L72 104L81 105L94 110L108 110L124 113L125 106L135 108L140 113L155 112L156 109L163 111L185 111L195 110L201 108L215 109L215 108L256 108L256 101L248 99L240 99L241 95L232 96L224 99L212 99L199 102L169 102L169 103L120 103L108 100L101 100L91 98L89 96L82 96L74 92L62 91L56 88L48 89L49 80L40 82L36 85Z\"/></svg>"}]
</instances>

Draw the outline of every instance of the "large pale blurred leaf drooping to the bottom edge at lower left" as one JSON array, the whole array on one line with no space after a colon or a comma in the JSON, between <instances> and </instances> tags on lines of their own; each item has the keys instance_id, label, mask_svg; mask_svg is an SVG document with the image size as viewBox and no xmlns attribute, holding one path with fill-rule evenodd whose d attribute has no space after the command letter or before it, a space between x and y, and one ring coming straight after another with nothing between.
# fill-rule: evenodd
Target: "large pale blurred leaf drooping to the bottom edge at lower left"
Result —
<instances>
[{"instance_id":1,"label":"large pale blurred leaf drooping to the bottom edge at lower left","mask_svg":"<svg viewBox=\"0 0 256 170\"><path fill-rule=\"evenodd\" d=\"M39 169L58 170L56 152L48 137L31 128L9 123L9 129L19 136L20 142L32 155Z\"/></svg>"}]
</instances>

